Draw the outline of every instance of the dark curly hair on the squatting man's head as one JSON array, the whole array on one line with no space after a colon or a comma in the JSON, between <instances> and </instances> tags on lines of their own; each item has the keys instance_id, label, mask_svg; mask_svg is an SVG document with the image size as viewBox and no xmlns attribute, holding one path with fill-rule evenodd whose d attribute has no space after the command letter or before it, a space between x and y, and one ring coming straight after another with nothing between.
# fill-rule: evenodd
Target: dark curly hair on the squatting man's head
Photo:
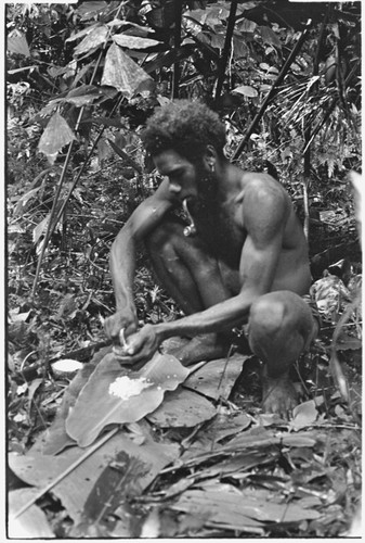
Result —
<instances>
[{"instance_id":1,"label":"dark curly hair on the squatting man's head","mask_svg":"<svg viewBox=\"0 0 365 543\"><path fill-rule=\"evenodd\" d=\"M196 162L208 144L224 157L225 128L217 113L201 102L175 100L158 108L148 118L142 140L152 156L173 149Z\"/></svg>"}]
</instances>

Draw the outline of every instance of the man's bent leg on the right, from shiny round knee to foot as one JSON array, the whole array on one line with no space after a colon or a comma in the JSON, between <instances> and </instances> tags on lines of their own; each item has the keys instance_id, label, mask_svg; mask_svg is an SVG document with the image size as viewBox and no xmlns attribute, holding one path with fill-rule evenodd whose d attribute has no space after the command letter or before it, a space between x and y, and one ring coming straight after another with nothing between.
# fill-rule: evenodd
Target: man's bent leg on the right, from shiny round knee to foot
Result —
<instances>
[{"instance_id":1,"label":"man's bent leg on the right, from shiny round knee to foot","mask_svg":"<svg viewBox=\"0 0 365 543\"><path fill-rule=\"evenodd\" d=\"M252 304L248 341L265 365L262 382L265 412L284 415L297 405L289 370L309 349L316 332L311 308L294 292L270 292Z\"/></svg>"}]
</instances>

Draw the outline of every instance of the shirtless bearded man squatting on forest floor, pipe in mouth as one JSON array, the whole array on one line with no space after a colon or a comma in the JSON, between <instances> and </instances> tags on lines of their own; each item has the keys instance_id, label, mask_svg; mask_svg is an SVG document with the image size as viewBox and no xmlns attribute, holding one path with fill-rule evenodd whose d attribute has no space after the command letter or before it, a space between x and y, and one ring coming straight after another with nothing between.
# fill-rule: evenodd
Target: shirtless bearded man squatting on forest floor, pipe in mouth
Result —
<instances>
[{"instance_id":1,"label":"shirtless bearded man squatting on forest floor, pipe in mouth","mask_svg":"<svg viewBox=\"0 0 365 543\"><path fill-rule=\"evenodd\" d=\"M268 174L244 173L224 157L224 127L198 102L159 109L143 140L165 178L112 247L117 311L105 330L115 342L127 339L120 362L139 366L173 336L194 338L175 354L185 365L222 357L231 330L248 325L249 346L264 363L263 408L288 413L297 404L290 366L317 331L301 298L311 285L308 247L288 194ZM171 213L182 205L187 228ZM140 240L186 316L138 331L132 287Z\"/></svg>"}]
</instances>

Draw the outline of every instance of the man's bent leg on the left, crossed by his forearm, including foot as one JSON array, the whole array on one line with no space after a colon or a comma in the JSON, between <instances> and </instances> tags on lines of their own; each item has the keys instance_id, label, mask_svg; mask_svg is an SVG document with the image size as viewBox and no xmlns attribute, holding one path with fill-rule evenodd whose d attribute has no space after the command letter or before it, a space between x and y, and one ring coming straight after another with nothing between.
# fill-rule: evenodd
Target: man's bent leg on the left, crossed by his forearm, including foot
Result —
<instances>
[{"instance_id":1,"label":"man's bent leg on the left, crossed by his forearm, including foot","mask_svg":"<svg viewBox=\"0 0 365 543\"><path fill-rule=\"evenodd\" d=\"M232 296L222 281L217 260L197 236L186 238L178 220L162 223L145 244L159 282L186 315ZM194 338L175 354L187 365L224 356L227 348L224 336L211 333Z\"/></svg>"}]
</instances>

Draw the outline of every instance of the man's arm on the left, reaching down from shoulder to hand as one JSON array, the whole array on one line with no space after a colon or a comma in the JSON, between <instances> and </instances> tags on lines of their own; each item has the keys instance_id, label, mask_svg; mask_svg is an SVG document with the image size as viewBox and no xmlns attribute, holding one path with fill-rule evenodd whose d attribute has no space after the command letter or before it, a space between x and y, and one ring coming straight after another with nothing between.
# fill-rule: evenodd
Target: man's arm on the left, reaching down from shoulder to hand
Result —
<instances>
[{"instance_id":1,"label":"man's arm on the left, reaching down from shoulder to hand","mask_svg":"<svg viewBox=\"0 0 365 543\"><path fill-rule=\"evenodd\" d=\"M133 300L136 244L158 225L172 205L167 181L162 181L156 192L136 207L113 242L109 267L116 313L105 320L105 332L109 338L118 340L121 328L125 328L126 336L136 330Z\"/></svg>"}]
</instances>

